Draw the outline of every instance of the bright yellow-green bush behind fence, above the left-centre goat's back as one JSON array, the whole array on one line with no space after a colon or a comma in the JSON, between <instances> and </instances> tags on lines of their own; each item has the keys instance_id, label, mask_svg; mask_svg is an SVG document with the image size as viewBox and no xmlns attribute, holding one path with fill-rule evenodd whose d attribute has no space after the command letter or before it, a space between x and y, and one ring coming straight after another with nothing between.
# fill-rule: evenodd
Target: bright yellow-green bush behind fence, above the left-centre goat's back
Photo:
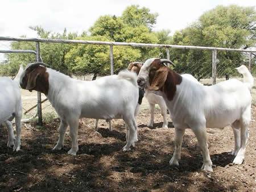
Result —
<instances>
[{"instance_id":1,"label":"bright yellow-green bush behind fence, above the left-centre goat's back","mask_svg":"<svg viewBox=\"0 0 256 192\"><path fill-rule=\"evenodd\" d=\"M105 36L88 36L80 40L109 41ZM65 57L69 70L75 74L110 74L110 55L109 46L106 45L73 45L73 48ZM138 49L130 47L114 47L114 72L127 67L130 61L141 57Z\"/></svg>"}]
</instances>

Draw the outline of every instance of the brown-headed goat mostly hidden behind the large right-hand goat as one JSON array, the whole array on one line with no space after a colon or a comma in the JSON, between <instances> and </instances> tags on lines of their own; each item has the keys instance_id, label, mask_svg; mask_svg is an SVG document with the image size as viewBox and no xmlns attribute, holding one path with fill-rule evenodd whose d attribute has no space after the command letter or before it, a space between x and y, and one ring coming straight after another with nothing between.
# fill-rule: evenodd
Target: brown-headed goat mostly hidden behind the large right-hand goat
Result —
<instances>
[{"instance_id":1,"label":"brown-headed goat mostly hidden behind the large right-hand goat","mask_svg":"<svg viewBox=\"0 0 256 192\"><path fill-rule=\"evenodd\" d=\"M139 74L139 71L141 70L142 65L143 65L142 62L131 62L127 69L130 70L131 72ZM172 63L172 65L174 64ZM193 77L191 74L182 74L181 76L188 78L191 81L195 81L199 83L196 80L196 78ZM148 123L148 127L153 127L155 105L158 104L161 110L161 114L163 116L163 128L168 128L167 106L166 106L166 102L164 102L163 97L152 93L152 91L148 89L145 90L145 97L150 105L150 123Z\"/></svg>"}]
</instances>

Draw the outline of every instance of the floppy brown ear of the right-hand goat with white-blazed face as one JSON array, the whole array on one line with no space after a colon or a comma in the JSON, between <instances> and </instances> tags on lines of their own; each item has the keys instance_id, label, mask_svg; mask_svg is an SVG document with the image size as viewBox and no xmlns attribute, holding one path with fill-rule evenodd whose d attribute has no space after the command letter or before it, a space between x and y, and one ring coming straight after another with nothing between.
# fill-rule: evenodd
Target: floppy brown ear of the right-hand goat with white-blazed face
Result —
<instances>
[{"instance_id":1,"label":"floppy brown ear of the right-hand goat with white-blazed face","mask_svg":"<svg viewBox=\"0 0 256 192\"><path fill-rule=\"evenodd\" d=\"M152 80L149 80L151 82L149 90L157 91L161 89L166 82L167 74L168 69L165 67L156 70L155 76L152 77Z\"/></svg>"}]
</instances>

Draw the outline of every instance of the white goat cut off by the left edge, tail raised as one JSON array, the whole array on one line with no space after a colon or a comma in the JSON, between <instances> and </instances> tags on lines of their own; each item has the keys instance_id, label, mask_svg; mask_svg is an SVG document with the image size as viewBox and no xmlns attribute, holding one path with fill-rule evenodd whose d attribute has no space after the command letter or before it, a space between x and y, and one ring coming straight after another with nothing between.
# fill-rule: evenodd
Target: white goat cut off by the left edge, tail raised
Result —
<instances>
[{"instance_id":1,"label":"white goat cut off by the left edge, tail raised","mask_svg":"<svg viewBox=\"0 0 256 192\"><path fill-rule=\"evenodd\" d=\"M19 89L19 78L23 72L20 65L19 72L14 80L8 77L0 77L0 124L5 123L8 128L7 147L13 147L13 151L20 149L20 130L22 127L22 99ZM11 121L15 118L16 139Z\"/></svg>"}]
</instances>

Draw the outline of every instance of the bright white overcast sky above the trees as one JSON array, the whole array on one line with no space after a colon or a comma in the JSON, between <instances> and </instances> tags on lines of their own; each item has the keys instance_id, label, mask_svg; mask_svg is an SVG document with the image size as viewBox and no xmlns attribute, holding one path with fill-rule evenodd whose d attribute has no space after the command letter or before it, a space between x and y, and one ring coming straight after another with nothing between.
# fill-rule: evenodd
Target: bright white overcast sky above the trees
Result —
<instances>
[{"instance_id":1,"label":"bright white overcast sky above the trees","mask_svg":"<svg viewBox=\"0 0 256 192\"><path fill-rule=\"evenodd\" d=\"M129 5L147 7L159 14L154 31L175 31L195 22L205 11L217 5L256 6L253 0L1 0L0 36L36 37L29 26L41 26L52 32L88 31L101 15L120 16ZM0 41L0 49L9 43ZM3 54L0 53L0 61Z\"/></svg>"}]
</instances>

